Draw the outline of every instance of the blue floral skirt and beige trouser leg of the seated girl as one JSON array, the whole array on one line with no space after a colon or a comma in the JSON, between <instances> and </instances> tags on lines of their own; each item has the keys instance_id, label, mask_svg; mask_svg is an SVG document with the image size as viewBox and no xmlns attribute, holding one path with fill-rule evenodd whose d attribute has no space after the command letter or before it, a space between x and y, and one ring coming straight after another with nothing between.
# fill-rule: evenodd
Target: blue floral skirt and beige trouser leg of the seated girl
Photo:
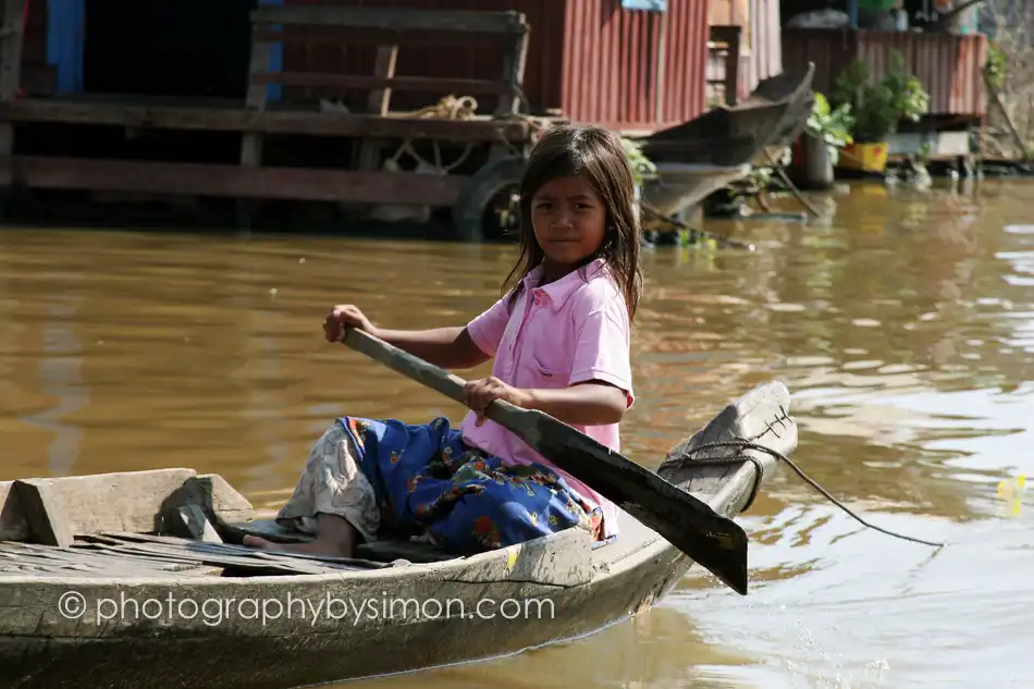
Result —
<instances>
[{"instance_id":1,"label":"blue floral skirt and beige trouser leg of the seated girl","mask_svg":"<svg viewBox=\"0 0 1034 689\"><path fill-rule=\"evenodd\" d=\"M554 469L506 465L467 445L445 418L421 425L337 419L313 446L279 518L313 530L319 513L348 519L367 539L424 538L456 554L571 527L599 541L603 530L600 508Z\"/></svg>"}]
</instances>

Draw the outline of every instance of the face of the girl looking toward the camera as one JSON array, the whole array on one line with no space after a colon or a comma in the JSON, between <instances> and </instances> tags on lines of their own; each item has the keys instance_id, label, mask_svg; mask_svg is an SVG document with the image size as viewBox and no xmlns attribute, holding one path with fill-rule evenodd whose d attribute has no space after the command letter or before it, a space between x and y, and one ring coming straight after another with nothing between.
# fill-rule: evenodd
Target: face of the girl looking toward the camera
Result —
<instances>
[{"instance_id":1,"label":"face of the girl looking toward the camera","mask_svg":"<svg viewBox=\"0 0 1034 689\"><path fill-rule=\"evenodd\" d=\"M569 269L603 244L606 208L583 177L558 177L531 197L531 225L546 261Z\"/></svg>"}]
</instances>

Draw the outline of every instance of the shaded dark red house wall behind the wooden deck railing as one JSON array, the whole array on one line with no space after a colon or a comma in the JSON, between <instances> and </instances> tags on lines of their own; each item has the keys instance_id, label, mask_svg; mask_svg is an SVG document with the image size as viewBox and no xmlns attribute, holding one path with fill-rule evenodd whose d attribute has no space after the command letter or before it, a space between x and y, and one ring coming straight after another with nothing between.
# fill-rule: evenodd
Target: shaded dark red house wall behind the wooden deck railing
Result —
<instances>
[{"instance_id":1,"label":"shaded dark red house wall behind the wooden deck railing","mask_svg":"<svg viewBox=\"0 0 1034 689\"><path fill-rule=\"evenodd\" d=\"M525 95L536 108L559 108L561 47L564 39L563 0L284 0L286 4L330 4L340 7L411 8L434 10L516 10L531 25L528 61L525 67ZM372 74L378 35L371 32L346 34L341 45L285 46L284 70ZM442 76L456 78L501 78L503 47L497 36L435 37L423 34L399 41L395 73L399 76ZM285 89L288 98L319 98L313 89ZM393 110L420 108L446 94L392 94ZM455 94L463 96L465 94ZM491 113L495 97L481 96L479 112Z\"/></svg>"}]
</instances>

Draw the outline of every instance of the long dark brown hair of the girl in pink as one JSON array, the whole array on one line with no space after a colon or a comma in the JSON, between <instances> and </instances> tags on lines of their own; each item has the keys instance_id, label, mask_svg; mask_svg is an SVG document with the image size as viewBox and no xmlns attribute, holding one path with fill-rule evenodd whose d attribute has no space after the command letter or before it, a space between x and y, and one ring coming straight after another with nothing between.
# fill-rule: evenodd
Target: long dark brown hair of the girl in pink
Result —
<instances>
[{"instance_id":1,"label":"long dark brown hair of the girl in pink","mask_svg":"<svg viewBox=\"0 0 1034 689\"><path fill-rule=\"evenodd\" d=\"M509 307L513 309L524 288L522 280L545 253L536 239L531 224L531 198L546 183L574 175L584 176L606 209L606 232L600 250L579 266L603 258L625 296L628 319L635 320L642 293L639 247L642 230L636 210L631 165L613 132L599 126L556 126L549 130L531 151L520 182L520 256L503 282L503 293L513 285Z\"/></svg>"}]
</instances>

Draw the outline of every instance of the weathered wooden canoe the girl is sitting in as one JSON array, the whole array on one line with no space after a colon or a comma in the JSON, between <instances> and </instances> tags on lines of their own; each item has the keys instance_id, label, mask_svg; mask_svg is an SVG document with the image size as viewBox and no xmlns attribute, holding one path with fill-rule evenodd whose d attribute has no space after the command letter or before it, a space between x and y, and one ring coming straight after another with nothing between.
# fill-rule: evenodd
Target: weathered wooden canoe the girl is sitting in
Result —
<instances>
[{"instance_id":1,"label":"weathered wooden canoe the girl is sitting in","mask_svg":"<svg viewBox=\"0 0 1034 689\"><path fill-rule=\"evenodd\" d=\"M755 387L658 472L739 514L773 457L687 451L746 439L788 455L789 406L783 383ZM348 561L263 553L243 533L279 527L189 469L0 483L0 677L21 689L285 689L489 659L633 615L693 564L627 515L595 549L571 529L471 557L390 541Z\"/></svg>"}]
</instances>

